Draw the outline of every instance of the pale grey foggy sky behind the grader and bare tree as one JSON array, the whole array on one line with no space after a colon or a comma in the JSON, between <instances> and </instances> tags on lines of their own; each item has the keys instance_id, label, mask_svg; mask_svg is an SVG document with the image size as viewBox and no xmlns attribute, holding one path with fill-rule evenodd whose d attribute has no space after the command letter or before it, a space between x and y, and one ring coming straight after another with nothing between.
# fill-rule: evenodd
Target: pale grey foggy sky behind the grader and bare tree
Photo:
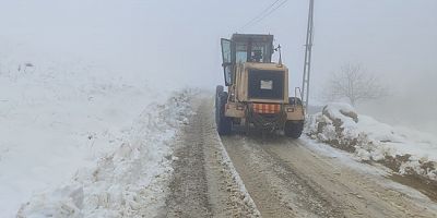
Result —
<instances>
[{"instance_id":1,"label":"pale grey foggy sky behind the grader and bare tree","mask_svg":"<svg viewBox=\"0 0 437 218\"><path fill-rule=\"evenodd\" d=\"M270 33L300 86L308 2L290 0L241 29L271 1L1 0L0 41L75 59L165 87L223 83L220 38ZM316 0L311 101L344 63L380 76L389 98L358 110L437 133L437 1ZM8 53L2 53L8 56ZM0 59L1 63L1 59Z\"/></svg>"}]
</instances>

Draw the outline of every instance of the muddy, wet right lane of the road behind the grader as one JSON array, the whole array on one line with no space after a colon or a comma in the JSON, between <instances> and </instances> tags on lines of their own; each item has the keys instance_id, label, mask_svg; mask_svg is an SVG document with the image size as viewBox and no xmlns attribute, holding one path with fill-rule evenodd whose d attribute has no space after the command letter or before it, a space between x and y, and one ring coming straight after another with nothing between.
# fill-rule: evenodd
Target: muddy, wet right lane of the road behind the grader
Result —
<instances>
[{"instance_id":1,"label":"muddy, wet right lane of the road behind the grader","mask_svg":"<svg viewBox=\"0 0 437 218\"><path fill-rule=\"evenodd\" d=\"M224 137L223 144L264 217L436 217L383 178L361 173L287 138Z\"/></svg>"}]
</instances>

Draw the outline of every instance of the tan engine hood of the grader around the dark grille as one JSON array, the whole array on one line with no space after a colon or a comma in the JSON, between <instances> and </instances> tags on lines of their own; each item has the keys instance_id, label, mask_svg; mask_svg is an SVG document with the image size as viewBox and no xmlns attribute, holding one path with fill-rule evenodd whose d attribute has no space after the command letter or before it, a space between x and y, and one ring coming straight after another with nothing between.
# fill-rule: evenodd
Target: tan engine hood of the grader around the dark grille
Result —
<instances>
[{"instance_id":1,"label":"tan engine hood of the grader around the dark grille","mask_svg":"<svg viewBox=\"0 0 437 218\"><path fill-rule=\"evenodd\" d=\"M237 99L248 102L288 102L288 70L276 63L237 65Z\"/></svg>"}]
</instances>

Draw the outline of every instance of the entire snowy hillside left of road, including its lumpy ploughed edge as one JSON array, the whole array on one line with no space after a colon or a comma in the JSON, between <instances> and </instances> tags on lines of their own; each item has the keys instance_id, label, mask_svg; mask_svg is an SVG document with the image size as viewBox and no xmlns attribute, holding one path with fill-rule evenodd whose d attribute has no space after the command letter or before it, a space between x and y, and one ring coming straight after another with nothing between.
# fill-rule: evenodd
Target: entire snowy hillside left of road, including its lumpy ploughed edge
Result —
<instances>
[{"instance_id":1,"label":"entire snowy hillside left of road, including its lumpy ploughed edge","mask_svg":"<svg viewBox=\"0 0 437 218\"><path fill-rule=\"evenodd\" d=\"M190 92L160 94L81 62L19 60L0 64L0 217L155 213Z\"/></svg>"}]
</instances>

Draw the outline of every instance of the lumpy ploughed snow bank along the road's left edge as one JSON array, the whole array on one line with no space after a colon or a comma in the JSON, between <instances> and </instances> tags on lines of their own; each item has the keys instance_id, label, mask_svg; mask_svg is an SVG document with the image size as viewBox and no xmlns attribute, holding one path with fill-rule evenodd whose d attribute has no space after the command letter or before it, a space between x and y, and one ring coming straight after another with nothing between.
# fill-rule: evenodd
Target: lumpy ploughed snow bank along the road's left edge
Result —
<instances>
[{"instance_id":1,"label":"lumpy ploughed snow bank along the road's left edge","mask_svg":"<svg viewBox=\"0 0 437 218\"><path fill-rule=\"evenodd\" d=\"M19 217L151 217L164 206L176 131L188 122L190 92L150 105L130 137L72 181L35 195ZM165 158L167 157L167 158Z\"/></svg>"}]
</instances>

